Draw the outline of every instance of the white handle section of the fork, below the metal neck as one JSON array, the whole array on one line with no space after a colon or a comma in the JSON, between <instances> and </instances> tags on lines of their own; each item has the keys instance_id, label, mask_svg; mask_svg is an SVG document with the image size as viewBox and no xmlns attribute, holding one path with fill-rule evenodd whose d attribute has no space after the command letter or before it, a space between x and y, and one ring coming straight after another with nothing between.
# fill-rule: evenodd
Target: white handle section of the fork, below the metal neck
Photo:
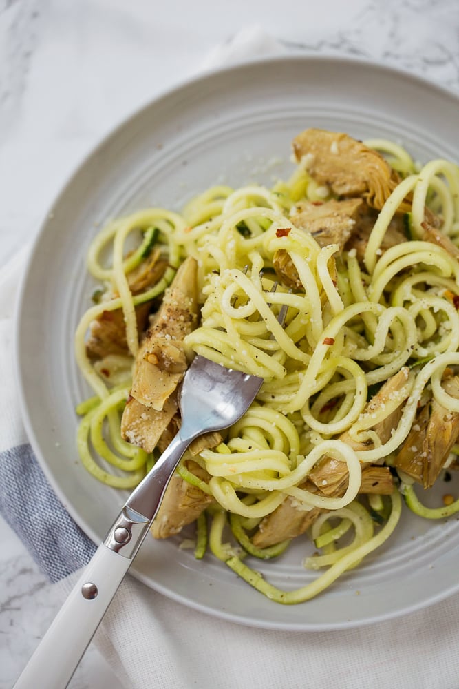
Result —
<instances>
[{"instance_id":1,"label":"white handle section of the fork, below the metal neck","mask_svg":"<svg viewBox=\"0 0 459 689\"><path fill-rule=\"evenodd\" d=\"M14 689L67 686L131 562L104 544L98 547ZM94 589L89 584L97 588L92 599ZM83 590L89 598L85 598Z\"/></svg>"}]
</instances>

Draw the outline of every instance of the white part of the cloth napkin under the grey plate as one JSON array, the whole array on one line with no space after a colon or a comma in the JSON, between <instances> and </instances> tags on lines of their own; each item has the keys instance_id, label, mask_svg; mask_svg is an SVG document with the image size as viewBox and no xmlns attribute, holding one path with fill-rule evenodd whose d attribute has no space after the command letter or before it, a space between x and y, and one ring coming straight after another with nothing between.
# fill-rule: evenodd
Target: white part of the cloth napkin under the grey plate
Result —
<instances>
[{"instance_id":1,"label":"white part of the cloth napkin under the grey plate","mask_svg":"<svg viewBox=\"0 0 459 689\"><path fill-rule=\"evenodd\" d=\"M215 49L202 67L281 50L259 28L248 28ZM13 395L0 396L2 449L25 443L14 400L10 338L17 284L12 276L23 270L24 254L0 274L0 375L5 376L3 389ZM65 586L75 578L67 577ZM303 610L306 618L307 603ZM457 689L458 638L459 595L374 626L289 633L209 617L128 576L95 642L127 689Z\"/></svg>"}]
</instances>

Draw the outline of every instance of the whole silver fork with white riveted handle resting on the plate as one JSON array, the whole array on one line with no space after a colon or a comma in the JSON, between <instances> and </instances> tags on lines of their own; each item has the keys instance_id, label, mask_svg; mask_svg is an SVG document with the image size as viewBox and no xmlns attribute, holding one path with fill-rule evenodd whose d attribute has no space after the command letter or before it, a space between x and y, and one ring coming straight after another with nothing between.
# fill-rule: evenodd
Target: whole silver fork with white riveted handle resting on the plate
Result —
<instances>
[{"instance_id":1,"label":"whole silver fork with white riveted handle resting on the plate","mask_svg":"<svg viewBox=\"0 0 459 689\"><path fill-rule=\"evenodd\" d=\"M277 320L284 325L287 307ZM197 355L179 392L182 425L147 476L131 493L105 541L78 579L14 687L62 689L102 621L156 517L169 480L195 438L237 422L255 400L264 379L227 369Z\"/></svg>"}]
</instances>

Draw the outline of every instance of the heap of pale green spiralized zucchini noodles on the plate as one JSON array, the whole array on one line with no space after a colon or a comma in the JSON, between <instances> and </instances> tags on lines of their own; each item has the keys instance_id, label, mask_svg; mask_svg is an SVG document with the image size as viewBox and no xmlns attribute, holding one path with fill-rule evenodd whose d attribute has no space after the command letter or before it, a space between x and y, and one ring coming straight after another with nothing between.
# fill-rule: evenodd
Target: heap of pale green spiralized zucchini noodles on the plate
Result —
<instances>
[{"instance_id":1,"label":"heap of pale green spiralized zucchini noodles on the plate","mask_svg":"<svg viewBox=\"0 0 459 689\"><path fill-rule=\"evenodd\" d=\"M193 258L200 313L183 340L186 357L198 353L264 378L250 409L220 442L185 453L178 466L184 490L206 500L206 511L193 517L195 557L205 558L209 547L284 604L318 595L385 542L401 518L401 493L422 517L459 510L458 500L425 508L411 485L403 482L398 491L387 469L400 469L405 481L397 461L412 433L422 432L420 409L436 405L449 414L447 422L459 414L459 394L447 384L459 371L459 169L442 158L420 166L401 145L380 138L365 146L392 166L392 185L385 195L378 189L378 210L370 207L371 194L340 196L332 176L326 184L316 178L306 154L273 188L215 185L181 213L147 208L111 220L87 253L99 287L75 333L76 361L89 386L76 410L83 465L101 482L131 489L159 456L156 446L147 451L142 442L127 442L132 436L122 431L122 417L145 359L145 331L177 269ZM367 234L365 224L355 230L361 216L346 216L339 232L348 223L347 243L326 220L330 238L323 240L314 212L333 207L336 218L354 196L365 202ZM142 277L147 264L150 281ZM145 407L141 418L150 412ZM326 467L332 475L321 477ZM374 470L389 482L381 493L372 489L379 479L370 489L365 484ZM325 568L294 591L268 584L244 562L281 557L288 548L297 535L288 529L277 542L257 544L284 509L293 511L293 522L310 520L301 528L321 550L306 551L303 564Z\"/></svg>"}]
</instances>

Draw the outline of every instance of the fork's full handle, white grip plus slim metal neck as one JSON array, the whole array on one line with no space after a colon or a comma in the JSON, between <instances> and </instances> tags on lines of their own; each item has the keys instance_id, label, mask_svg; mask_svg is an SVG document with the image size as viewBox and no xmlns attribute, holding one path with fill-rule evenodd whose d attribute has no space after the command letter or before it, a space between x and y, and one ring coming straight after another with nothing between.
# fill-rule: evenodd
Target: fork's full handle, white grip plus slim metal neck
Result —
<instances>
[{"instance_id":1,"label":"fork's full handle, white grip plus slim metal neck","mask_svg":"<svg viewBox=\"0 0 459 689\"><path fill-rule=\"evenodd\" d=\"M46 689L64 689L69 683L149 531L180 457L195 438L196 433L182 438L184 429L182 424L153 469L127 499L14 689L36 689L37 680ZM95 597L90 595L92 590Z\"/></svg>"}]
</instances>

